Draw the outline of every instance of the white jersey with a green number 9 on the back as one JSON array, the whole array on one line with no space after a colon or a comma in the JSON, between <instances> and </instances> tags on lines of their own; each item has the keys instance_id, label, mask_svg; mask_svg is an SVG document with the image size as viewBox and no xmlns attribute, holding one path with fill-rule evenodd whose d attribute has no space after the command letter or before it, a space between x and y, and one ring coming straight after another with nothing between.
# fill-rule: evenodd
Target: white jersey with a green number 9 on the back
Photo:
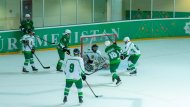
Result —
<instances>
[{"instance_id":1,"label":"white jersey with a green number 9 on the back","mask_svg":"<svg viewBox=\"0 0 190 107\"><path fill-rule=\"evenodd\" d=\"M71 57L66 61L66 79L79 80L81 79L81 74L84 74L84 61L81 57Z\"/></svg>"}]
</instances>

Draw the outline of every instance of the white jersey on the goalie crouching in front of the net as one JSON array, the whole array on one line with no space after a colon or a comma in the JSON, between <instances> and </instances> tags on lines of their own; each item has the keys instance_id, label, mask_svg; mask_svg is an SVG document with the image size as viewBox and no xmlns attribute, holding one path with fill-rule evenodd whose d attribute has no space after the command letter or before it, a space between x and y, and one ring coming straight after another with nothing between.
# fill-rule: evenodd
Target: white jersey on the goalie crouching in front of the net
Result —
<instances>
[{"instance_id":1,"label":"white jersey on the goalie crouching in front of the net","mask_svg":"<svg viewBox=\"0 0 190 107\"><path fill-rule=\"evenodd\" d=\"M99 50L96 52L93 52L92 50L88 50L85 52L86 55L90 58L90 60L98 60L100 57L102 57L102 54Z\"/></svg>"}]
</instances>

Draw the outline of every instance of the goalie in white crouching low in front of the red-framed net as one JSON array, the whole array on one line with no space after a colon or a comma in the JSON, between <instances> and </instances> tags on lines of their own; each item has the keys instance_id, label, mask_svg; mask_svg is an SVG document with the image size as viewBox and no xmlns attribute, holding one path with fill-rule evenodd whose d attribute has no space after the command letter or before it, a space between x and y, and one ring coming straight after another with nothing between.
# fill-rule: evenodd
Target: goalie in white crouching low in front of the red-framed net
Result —
<instances>
[{"instance_id":1,"label":"goalie in white crouching low in front of the red-framed net","mask_svg":"<svg viewBox=\"0 0 190 107\"><path fill-rule=\"evenodd\" d=\"M98 50L97 44L93 44L91 49L88 49L86 52L84 52L83 59L85 62L85 69L88 72L108 68L108 62Z\"/></svg>"}]
</instances>

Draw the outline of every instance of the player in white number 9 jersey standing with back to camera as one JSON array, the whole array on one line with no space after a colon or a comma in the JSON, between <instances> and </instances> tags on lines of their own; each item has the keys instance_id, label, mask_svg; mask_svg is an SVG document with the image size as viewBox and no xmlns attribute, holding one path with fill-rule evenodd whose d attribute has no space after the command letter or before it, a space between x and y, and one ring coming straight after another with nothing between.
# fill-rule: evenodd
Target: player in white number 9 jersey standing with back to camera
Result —
<instances>
[{"instance_id":1,"label":"player in white number 9 jersey standing with back to camera","mask_svg":"<svg viewBox=\"0 0 190 107\"><path fill-rule=\"evenodd\" d=\"M67 102L67 96L69 95L70 88L72 87L73 83L75 83L75 86L78 89L79 103L83 103L82 80L86 80L84 61L80 57L79 49L74 49L73 54L74 57L68 58L66 62L66 85L63 102Z\"/></svg>"}]
</instances>

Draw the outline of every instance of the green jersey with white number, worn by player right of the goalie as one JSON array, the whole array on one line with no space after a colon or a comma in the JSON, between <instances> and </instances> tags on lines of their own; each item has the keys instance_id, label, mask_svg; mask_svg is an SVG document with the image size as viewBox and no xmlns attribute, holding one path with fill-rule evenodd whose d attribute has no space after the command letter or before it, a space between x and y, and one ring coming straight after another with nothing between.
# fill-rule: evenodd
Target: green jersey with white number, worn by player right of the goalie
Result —
<instances>
[{"instance_id":1,"label":"green jersey with white number, worn by player right of the goalie","mask_svg":"<svg viewBox=\"0 0 190 107\"><path fill-rule=\"evenodd\" d=\"M120 63L120 51L121 48L116 44L112 44L106 47L105 52L109 56L110 64L117 64Z\"/></svg>"}]
</instances>

